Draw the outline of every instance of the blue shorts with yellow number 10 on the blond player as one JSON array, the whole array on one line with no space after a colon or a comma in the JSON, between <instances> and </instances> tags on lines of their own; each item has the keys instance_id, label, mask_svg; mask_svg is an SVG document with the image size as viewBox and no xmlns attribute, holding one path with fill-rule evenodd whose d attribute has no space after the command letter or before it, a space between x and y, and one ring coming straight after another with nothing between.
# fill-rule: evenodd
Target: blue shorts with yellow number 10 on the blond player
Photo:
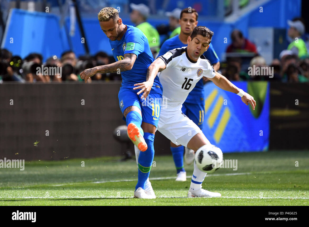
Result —
<instances>
[{"instance_id":1,"label":"blue shorts with yellow number 10 on the blond player","mask_svg":"<svg viewBox=\"0 0 309 227\"><path fill-rule=\"evenodd\" d=\"M146 100L144 100L141 99L143 92L137 95L138 91L139 89L133 90L133 88L120 88L118 99L122 114L127 107L136 106L142 112L142 122L158 127L162 105L162 95L159 93L149 93ZM125 117L123 117L123 120L125 120Z\"/></svg>"}]
</instances>

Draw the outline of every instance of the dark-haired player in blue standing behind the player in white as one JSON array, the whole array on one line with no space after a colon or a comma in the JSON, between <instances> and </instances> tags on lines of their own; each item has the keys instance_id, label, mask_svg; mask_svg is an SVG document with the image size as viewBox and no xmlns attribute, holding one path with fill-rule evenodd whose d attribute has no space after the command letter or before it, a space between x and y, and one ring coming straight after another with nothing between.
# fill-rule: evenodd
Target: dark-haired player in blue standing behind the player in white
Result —
<instances>
[{"instance_id":1,"label":"dark-haired player in blue standing behind the player in white","mask_svg":"<svg viewBox=\"0 0 309 227\"><path fill-rule=\"evenodd\" d=\"M158 56L161 56L172 49L187 46L188 36L191 36L194 27L197 26L197 17L198 14L195 9L183 9L180 13L179 19L180 34L166 40L162 44ZM211 43L209 44L209 48L207 49L207 51L204 52L203 55L210 61L215 71L220 68L219 58L214 51ZM205 81L208 79L203 78L203 80ZM203 80L197 82L196 86L189 93L186 101L182 104L181 108L182 112L201 129L203 129L205 109ZM194 161L194 151L188 148L184 148L182 145L177 146L176 144L171 142L171 152L177 170L176 181L186 181L187 175L184 170L184 157L186 164L192 164Z\"/></svg>"}]
</instances>

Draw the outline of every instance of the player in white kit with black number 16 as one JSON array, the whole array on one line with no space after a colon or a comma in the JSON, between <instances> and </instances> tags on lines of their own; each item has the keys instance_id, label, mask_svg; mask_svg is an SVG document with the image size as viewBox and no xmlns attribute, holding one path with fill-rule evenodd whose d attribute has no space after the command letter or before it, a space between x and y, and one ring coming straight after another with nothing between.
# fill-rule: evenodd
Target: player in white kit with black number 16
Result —
<instances>
[{"instance_id":1,"label":"player in white kit with black number 16","mask_svg":"<svg viewBox=\"0 0 309 227\"><path fill-rule=\"evenodd\" d=\"M163 99L167 108L161 109L158 130L176 145L183 145L195 152L203 145L210 144L201 129L181 112L182 103L189 92L202 78L209 80L223 90L233 92L241 97L246 104L251 104L253 110L256 105L251 95L239 89L224 76L216 72L210 61L202 54L208 49L214 32L207 27L198 26L188 37L188 46L176 48L159 56L149 67L147 78L154 78L158 72L163 86ZM143 97L149 94L151 84L141 83L133 89L142 89L138 94ZM194 170L189 188L189 197L220 197L218 192L202 189L205 172L199 170L194 163Z\"/></svg>"}]
</instances>

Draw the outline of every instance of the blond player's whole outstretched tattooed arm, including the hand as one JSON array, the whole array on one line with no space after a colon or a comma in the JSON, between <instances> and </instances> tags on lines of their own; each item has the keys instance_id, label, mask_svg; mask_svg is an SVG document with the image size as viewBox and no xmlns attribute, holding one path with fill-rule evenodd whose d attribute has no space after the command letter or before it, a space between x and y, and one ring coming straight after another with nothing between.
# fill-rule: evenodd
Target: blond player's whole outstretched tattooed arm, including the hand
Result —
<instances>
[{"instance_id":1,"label":"blond player's whole outstretched tattooed arm, including the hand","mask_svg":"<svg viewBox=\"0 0 309 227\"><path fill-rule=\"evenodd\" d=\"M124 55L124 59L116 61L112 64L100 65L91 69L85 69L83 72L81 72L80 78L84 79L85 83L87 83L88 78L92 77L96 73L116 73L119 70L121 72L131 70L135 60L136 55L133 53L128 53Z\"/></svg>"}]
</instances>

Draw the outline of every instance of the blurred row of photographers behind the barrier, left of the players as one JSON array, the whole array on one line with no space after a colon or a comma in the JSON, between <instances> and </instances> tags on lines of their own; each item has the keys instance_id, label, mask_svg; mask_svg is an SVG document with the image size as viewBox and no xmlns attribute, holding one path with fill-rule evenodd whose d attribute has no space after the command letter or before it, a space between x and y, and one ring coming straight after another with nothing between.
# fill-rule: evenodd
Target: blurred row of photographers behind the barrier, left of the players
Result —
<instances>
[{"instance_id":1,"label":"blurred row of photographers behind the barrier, left of the players","mask_svg":"<svg viewBox=\"0 0 309 227\"><path fill-rule=\"evenodd\" d=\"M72 51L66 51L60 57L54 55L42 62L42 55L31 53L24 59L12 56L6 49L0 53L0 82L64 82L84 81L79 74L85 69L98 65L108 65L115 62L112 56L98 52L95 56L76 57ZM91 81L121 80L121 74L95 74L88 79Z\"/></svg>"}]
</instances>

